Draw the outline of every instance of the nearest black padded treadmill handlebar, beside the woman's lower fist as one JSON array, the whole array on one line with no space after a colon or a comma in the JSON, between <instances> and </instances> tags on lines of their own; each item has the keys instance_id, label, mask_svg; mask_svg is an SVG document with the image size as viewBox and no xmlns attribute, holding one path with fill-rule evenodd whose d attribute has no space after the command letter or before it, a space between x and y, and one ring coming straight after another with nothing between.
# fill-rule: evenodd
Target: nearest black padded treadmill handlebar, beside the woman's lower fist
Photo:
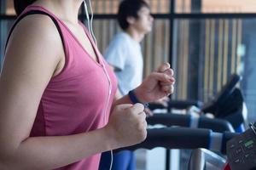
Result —
<instances>
[{"instance_id":1,"label":"nearest black padded treadmill handlebar, beside the woman's lower fist","mask_svg":"<svg viewBox=\"0 0 256 170\"><path fill-rule=\"evenodd\" d=\"M218 135L216 135L218 134ZM222 138L215 138L221 135ZM119 152L121 150L137 150L137 149L154 149L156 147L164 147L166 149L196 149L205 148L214 151L221 151L225 154L226 142L235 136L236 133L213 133L210 129L186 128L186 127L168 127L148 129L148 136L141 144L135 144L125 148L113 150ZM212 148L212 141L219 144Z\"/></svg>"}]
</instances>

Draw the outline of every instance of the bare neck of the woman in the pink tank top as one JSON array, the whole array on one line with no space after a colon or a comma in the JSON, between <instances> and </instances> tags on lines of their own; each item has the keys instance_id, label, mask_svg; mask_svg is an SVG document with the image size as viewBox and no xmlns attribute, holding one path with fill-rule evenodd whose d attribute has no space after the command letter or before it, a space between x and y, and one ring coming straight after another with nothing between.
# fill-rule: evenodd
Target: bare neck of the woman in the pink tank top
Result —
<instances>
[{"instance_id":1,"label":"bare neck of the woman in the pink tank top","mask_svg":"<svg viewBox=\"0 0 256 170\"><path fill-rule=\"evenodd\" d=\"M79 20L79 8L83 0L38 0L35 5L49 9L61 20L77 24Z\"/></svg>"}]
</instances>

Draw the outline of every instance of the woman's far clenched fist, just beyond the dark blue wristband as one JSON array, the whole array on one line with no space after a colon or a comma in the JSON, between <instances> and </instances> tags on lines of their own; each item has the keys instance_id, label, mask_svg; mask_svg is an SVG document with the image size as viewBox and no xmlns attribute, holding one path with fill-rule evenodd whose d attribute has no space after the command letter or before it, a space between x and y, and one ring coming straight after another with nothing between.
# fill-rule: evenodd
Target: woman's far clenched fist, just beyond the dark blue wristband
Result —
<instances>
[{"instance_id":1,"label":"woman's far clenched fist, just beyond the dark blue wristband","mask_svg":"<svg viewBox=\"0 0 256 170\"><path fill-rule=\"evenodd\" d=\"M175 79L168 63L160 65L157 71L146 77L143 83L135 89L140 101L148 103L162 99L173 93Z\"/></svg>"}]
</instances>

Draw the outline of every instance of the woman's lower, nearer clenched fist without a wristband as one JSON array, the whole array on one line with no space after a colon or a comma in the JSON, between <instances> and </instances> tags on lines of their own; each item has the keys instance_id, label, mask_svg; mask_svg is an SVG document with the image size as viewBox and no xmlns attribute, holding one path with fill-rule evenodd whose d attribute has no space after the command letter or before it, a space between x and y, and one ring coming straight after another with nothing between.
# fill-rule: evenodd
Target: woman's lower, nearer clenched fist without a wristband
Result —
<instances>
[{"instance_id":1,"label":"woman's lower, nearer clenched fist without a wristband","mask_svg":"<svg viewBox=\"0 0 256 170\"><path fill-rule=\"evenodd\" d=\"M113 139L112 149L143 142L147 136L147 122L142 104L116 105L105 129Z\"/></svg>"}]
</instances>

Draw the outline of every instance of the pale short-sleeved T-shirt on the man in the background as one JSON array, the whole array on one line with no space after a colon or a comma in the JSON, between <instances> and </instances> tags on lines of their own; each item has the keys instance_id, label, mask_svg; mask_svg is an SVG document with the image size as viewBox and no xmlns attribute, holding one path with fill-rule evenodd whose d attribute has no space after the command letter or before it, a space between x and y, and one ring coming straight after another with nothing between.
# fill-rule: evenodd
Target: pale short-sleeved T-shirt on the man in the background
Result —
<instances>
[{"instance_id":1,"label":"pale short-sleeved T-shirt on the man in the background","mask_svg":"<svg viewBox=\"0 0 256 170\"><path fill-rule=\"evenodd\" d=\"M136 42L125 32L117 34L110 43L105 59L115 68L122 95L143 81L143 54L139 42Z\"/></svg>"}]
</instances>

